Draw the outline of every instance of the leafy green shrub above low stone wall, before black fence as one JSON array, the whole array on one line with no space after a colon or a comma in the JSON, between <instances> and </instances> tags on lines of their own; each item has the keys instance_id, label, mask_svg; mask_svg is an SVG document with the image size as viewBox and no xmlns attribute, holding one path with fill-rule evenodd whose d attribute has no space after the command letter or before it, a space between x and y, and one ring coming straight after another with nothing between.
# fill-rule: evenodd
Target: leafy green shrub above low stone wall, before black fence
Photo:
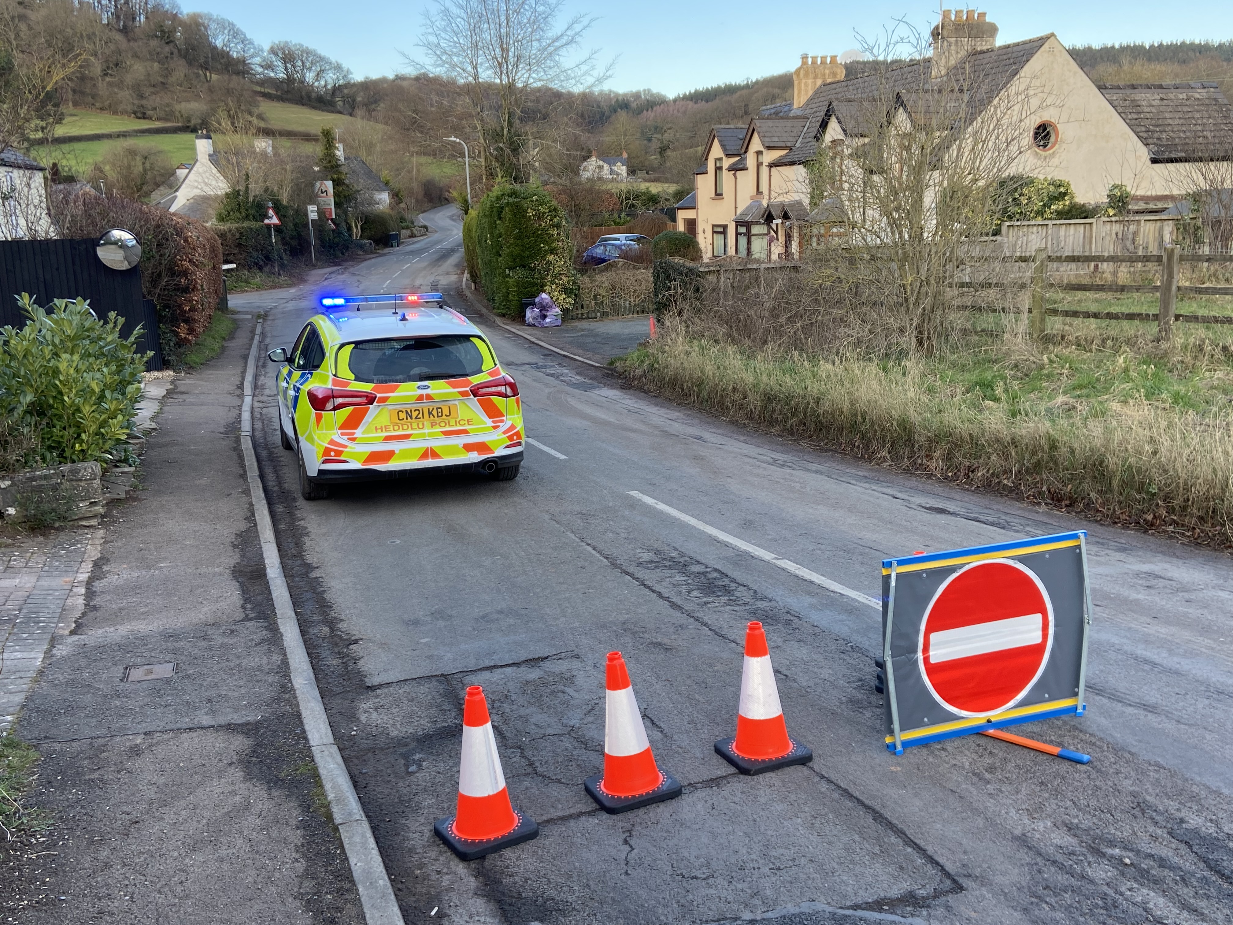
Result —
<instances>
[{"instance_id":1,"label":"leafy green shrub above low stone wall, before black fence","mask_svg":"<svg viewBox=\"0 0 1233 925\"><path fill-rule=\"evenodd\" d=\"M53 312L26 294L21 303L26 326L0 328L0 416L37 428L49 461L106 460L142 393L141 328L122 338L115 312L99 321L80 298Z\"/></svg>"}]
</instances>

